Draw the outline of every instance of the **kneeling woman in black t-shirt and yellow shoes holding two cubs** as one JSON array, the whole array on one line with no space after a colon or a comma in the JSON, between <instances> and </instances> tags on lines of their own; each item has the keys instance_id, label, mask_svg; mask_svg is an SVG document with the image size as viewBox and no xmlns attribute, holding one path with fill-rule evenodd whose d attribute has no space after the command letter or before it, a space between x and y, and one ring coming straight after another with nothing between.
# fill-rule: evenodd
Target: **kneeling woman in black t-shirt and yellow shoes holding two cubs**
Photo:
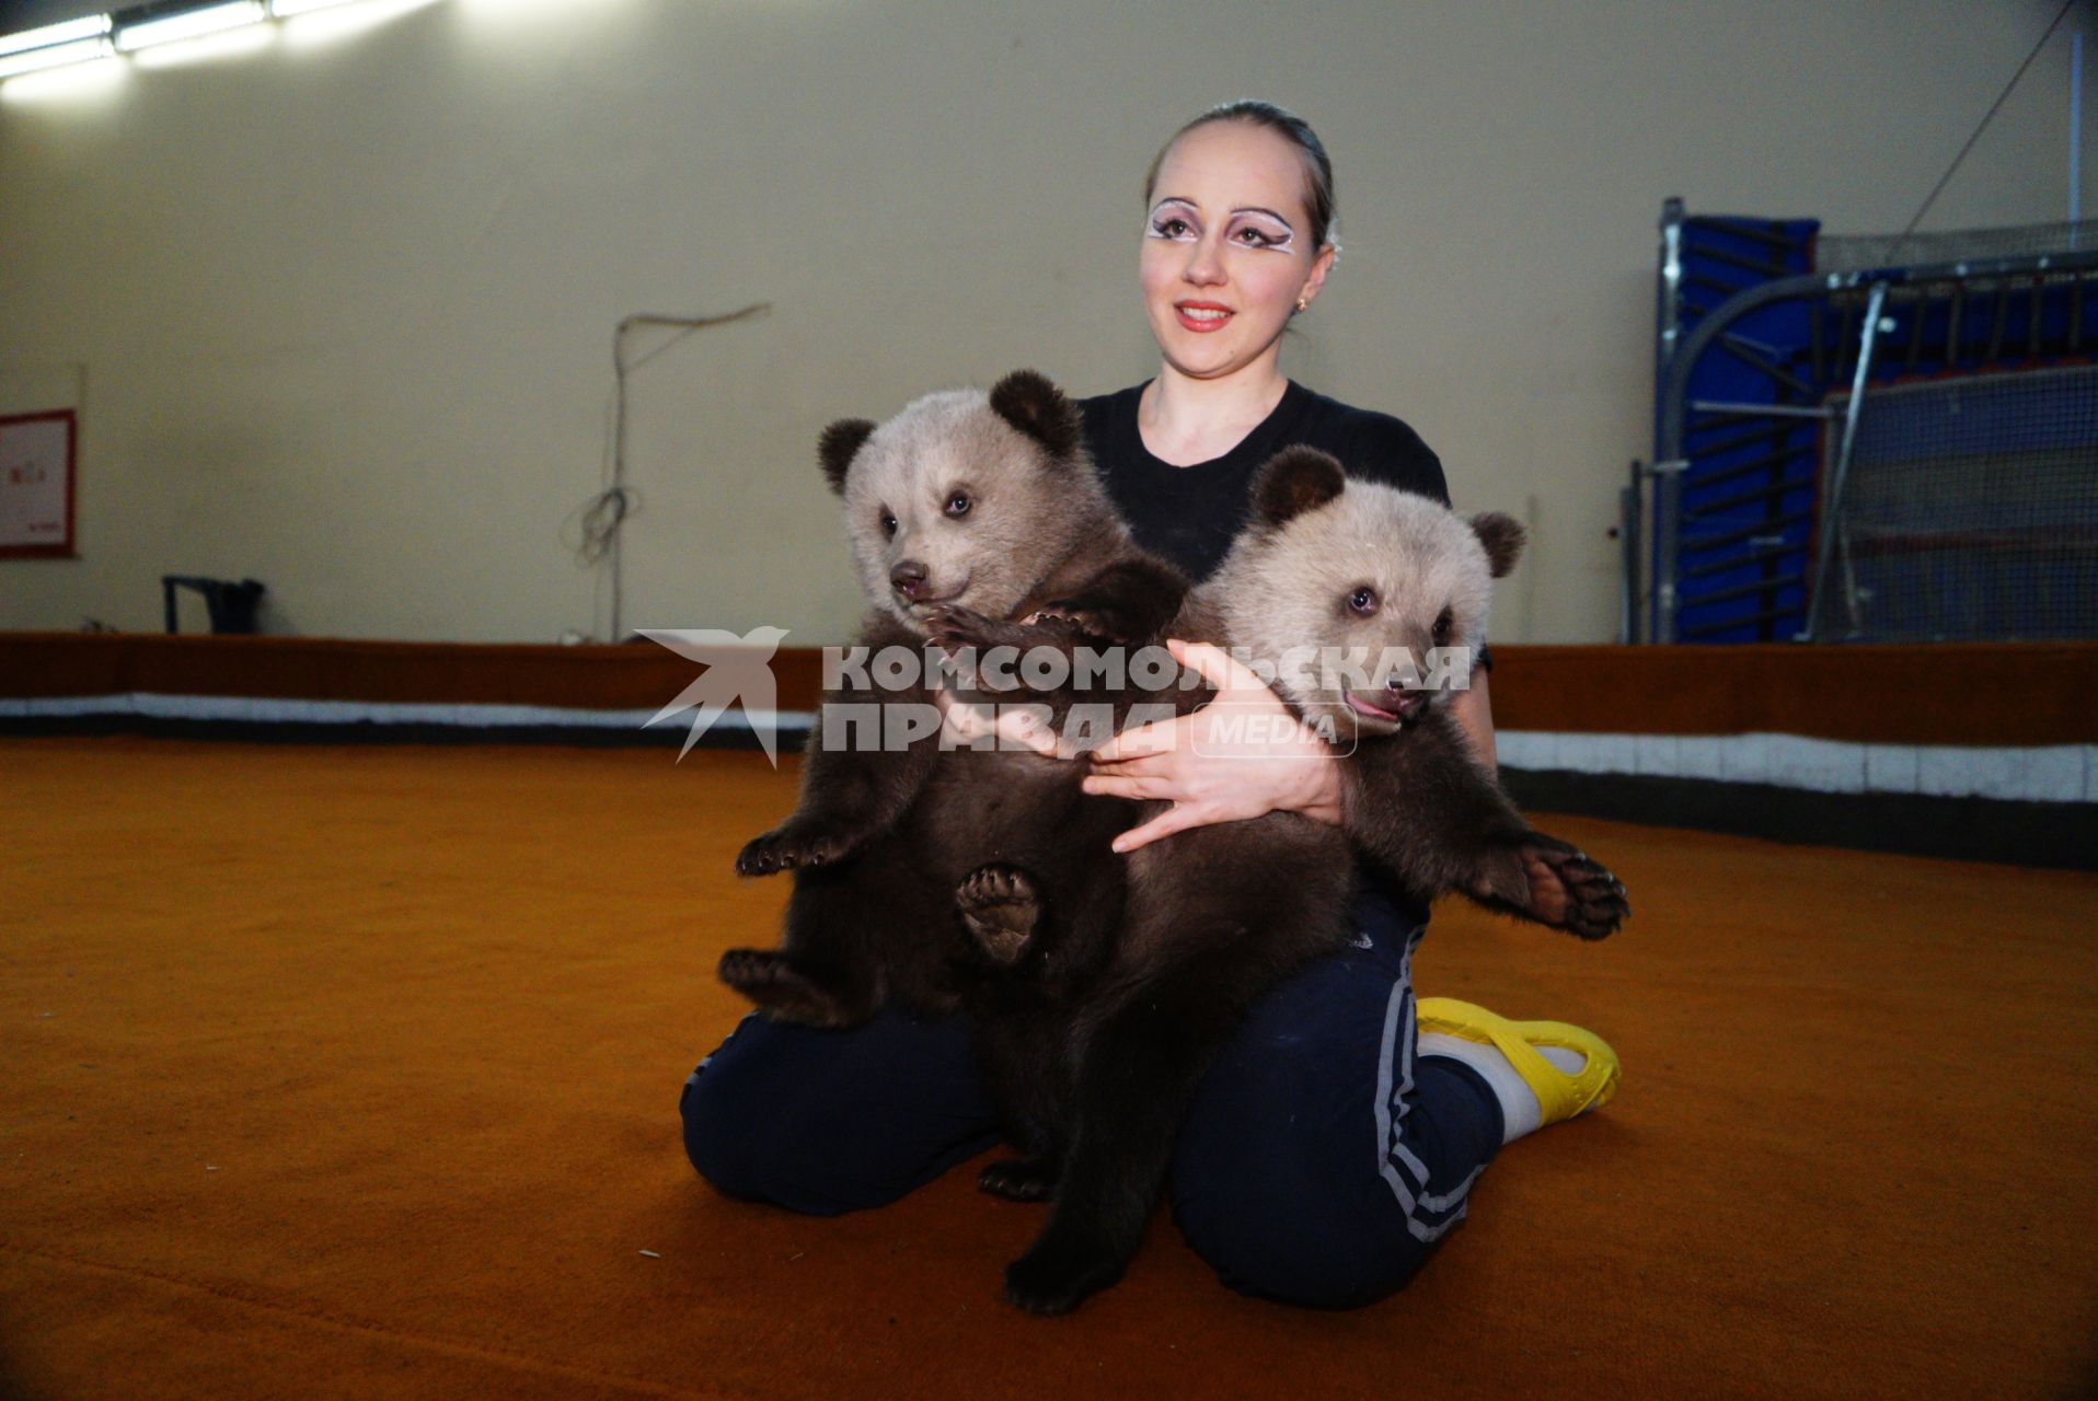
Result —
<instances>
[{"instance_id":1,"label":"kneeling woman in black t-shirt and yellow shoes holding two cubs","mask_svg":"<svg viewBox=\"0 0 2098 1401\"><path fill-rule=\"evenodd\" d=\"M1448 499L1441 464L1406 424L1280 371L1282 331L1339 252L1332 166L1309 126L1267 103L1202 113L1158 153L1146 206L1143 306L1162 365L1148 384L1085 401L1089 447L1139 543L1208 575L1255 468L1299 443L1351 474ZM1215 648L1175 648L1234 711L1284 713ZM1483 669L1456 715L1492 766ZM1200 724L1133 730L1093 757L1087 791L1173 803L1116 849L1273 810L1341 820L1315 736L1232 755L1187 742ZM1248 1294L1324 1307L1389 1294L1464 1216L1502 1143L1615 1089L1609 1047L1578 1028L1446 998L1416 1007L1410 956L1427 910L1366 877L1355 946L1255 1007L1181 1128L1173 1212ZM715 1187L806 1212L890 1202L997 1139L969 1028L900 1013L854 1032L745 1019L692 1072L682 1109L686 1151Z\"/></svg>"}]
</instances>

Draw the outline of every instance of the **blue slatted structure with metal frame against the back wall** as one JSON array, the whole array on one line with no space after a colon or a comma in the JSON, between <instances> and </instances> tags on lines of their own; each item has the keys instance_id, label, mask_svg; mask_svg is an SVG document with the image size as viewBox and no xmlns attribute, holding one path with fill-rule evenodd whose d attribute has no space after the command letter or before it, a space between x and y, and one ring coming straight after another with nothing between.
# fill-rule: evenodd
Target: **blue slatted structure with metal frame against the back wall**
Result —
<instances>
[{"instance_id":1,"label":"blue slatted structure with metal frame against the back wall","mask_svg":"<svg viewBox=\"0 0 2098 1401\"><path fill-rule=\"evenodd\" d=\"M1628 640L1806 631L1829 394L2098 348L2098 252L1813 273L1817 233L1662 210L1651 587Z\"/></svg>"}]
</instances>

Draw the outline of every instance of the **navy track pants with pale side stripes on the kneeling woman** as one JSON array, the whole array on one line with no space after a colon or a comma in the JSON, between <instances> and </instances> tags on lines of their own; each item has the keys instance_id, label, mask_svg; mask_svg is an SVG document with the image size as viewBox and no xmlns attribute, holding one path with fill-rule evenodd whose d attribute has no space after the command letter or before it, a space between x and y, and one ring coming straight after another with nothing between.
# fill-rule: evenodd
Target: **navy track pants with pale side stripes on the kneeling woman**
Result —
<instances>
[{"instance_id":1,"label":"navy track pants with pale side stripes on the kneeling woman","mask_svg":"<svg viewBox=\"0 0 2098 1401\"><path fill-rule=\"evenodd\" d=\"M1236 1290L1347 1309L1391 1294L1464 1219L1500 1147L1469 1065L1414 1044L1427 912L1380 891L1355 946L1263 996L1173 1154L1173 1216ZM850 1032L745 1017L684 1084L684 1145L720 1191L797 1212L883 1206L999 1141L963 1017Z\"/></svg>"}]
</instances>

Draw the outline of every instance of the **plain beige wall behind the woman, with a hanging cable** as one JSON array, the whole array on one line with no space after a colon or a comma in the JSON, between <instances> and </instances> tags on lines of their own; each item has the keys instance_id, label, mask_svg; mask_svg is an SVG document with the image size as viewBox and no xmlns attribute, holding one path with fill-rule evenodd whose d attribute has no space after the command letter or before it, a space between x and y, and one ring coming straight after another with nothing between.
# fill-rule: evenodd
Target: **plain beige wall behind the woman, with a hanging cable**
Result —
<instances>
[{"instance_id":1,"label":"plain beige wall behind the woman, with a hanging cable","mask_svg":"<svg viewBox=\"0 0 2098 1401\"><path fill-rule=\"evenodd\" d=\"M151 629L180 570L264 579L273 631L602 631L564 529L613 325L768 300L634 380L625 625L837 640L818 428L1015 365L1150 373L1141 170L1263 94L1341 182L1284 367L1532 520L1498 635L1607 640L1660 201L1899 229L2054 8L373 0L357 34L17 80L0 411L82 407L80 560L0 562L0 627ZM2067 67L2058 36L1926 229L2062 216Z\"/></svg>"}]
</instances>

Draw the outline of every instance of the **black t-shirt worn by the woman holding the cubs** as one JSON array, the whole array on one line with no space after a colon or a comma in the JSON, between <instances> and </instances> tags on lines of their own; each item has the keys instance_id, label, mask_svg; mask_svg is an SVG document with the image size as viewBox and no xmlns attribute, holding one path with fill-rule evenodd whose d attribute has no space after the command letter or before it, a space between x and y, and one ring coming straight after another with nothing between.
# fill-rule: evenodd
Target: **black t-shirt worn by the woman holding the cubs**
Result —
<instances>
[{"instance_id":1,"label":"black t-shirt worn by the woman holding the cubs","mask_svg":"<svg viewBox=\"0 0 2098 1401\"><path fill-rule=\"evenodd\" d=\"M1175 468L1152 457L1137 432L1143 386L1078 401L1085 443L1099 464L1137 543L1206 579L1246 522L1253 474L1284 447L1332 453L1349 476L1387 482L1450 503L1441 461L1412 428L1389 413L1351 409L1290 380L1282 403L1223 457Z\"/></svg>"}]
</instances>

